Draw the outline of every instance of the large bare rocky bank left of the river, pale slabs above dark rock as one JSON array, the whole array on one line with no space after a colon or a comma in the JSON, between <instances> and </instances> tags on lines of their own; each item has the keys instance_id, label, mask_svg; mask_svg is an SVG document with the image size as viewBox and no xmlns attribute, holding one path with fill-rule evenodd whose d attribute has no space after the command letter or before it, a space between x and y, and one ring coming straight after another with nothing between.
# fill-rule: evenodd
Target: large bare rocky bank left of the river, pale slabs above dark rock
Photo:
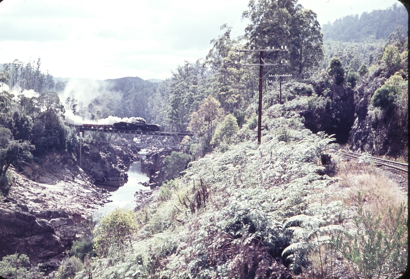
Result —
<instances>
[{"instance_id":1,"label":"large bare rocky bank left of the river, pale slabs above dark rock","mask_svg":"<svg viewBox=\"0 0 410 279\"><path fill-rule=\"evenodd\" d=\"M75 162L50 154L43 166L22 166L26 176L13 170L9 194L0 201L0 259L24 253L32 264L52 270L89 230L87 218L107 202L108 194L70 161Z\"/></svg>"}]
</instances>

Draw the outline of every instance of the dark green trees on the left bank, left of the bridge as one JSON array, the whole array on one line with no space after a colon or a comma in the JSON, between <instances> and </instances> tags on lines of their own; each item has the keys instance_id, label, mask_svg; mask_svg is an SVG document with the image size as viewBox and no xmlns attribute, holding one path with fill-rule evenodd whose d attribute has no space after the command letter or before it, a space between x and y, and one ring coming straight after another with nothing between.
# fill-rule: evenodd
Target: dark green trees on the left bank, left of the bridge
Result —
<instances>
[{"instance_id":1,"label":"dark green trees on the left bank, left of the bridge","mask_svg":"<svg viewBox=\"0 0 410 279\"><path fill-rule=\"evenodd\" d=\"M71 154L78 139L64 122L64 106L55 92L44 91L28 98L3 91L0 93L0 191L10 188L9 166L40 162L49 152Z\"/></svg>"}]
</instances>

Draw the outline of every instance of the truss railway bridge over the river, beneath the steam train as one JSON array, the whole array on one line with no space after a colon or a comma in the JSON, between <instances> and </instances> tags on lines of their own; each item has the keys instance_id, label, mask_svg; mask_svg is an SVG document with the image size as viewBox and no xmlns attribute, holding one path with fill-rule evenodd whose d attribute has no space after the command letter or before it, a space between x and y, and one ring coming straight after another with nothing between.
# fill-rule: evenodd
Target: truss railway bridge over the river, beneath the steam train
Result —
<instances>
[{"instance_id":1,"label":"truss railway bridge over the river, beneath the steam train","mask_svg":"<svg viewBox=\"0 0 410 279\"><path fill-rule=\"evenodd\" d=\"M115 145L133 144L139 148L169 147L178 148L178 144L183 137L190 136L192 133L173 133L173 132L153 132L141 130L117 130L112 125L73 125L77 133L83 133L83 137L91 136L95 142L108 142Z\"/></svg>"}]
</instances>

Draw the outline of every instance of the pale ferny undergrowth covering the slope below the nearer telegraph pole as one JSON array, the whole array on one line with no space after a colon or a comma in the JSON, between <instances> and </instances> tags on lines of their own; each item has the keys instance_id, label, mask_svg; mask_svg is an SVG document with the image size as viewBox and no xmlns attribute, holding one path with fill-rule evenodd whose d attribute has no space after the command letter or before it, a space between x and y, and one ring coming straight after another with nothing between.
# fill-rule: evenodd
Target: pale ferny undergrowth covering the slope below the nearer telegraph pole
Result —
<instances>
[{"instance_id":1,"label":"pale ferny undergrowth covering the slope below the nearer telegraph pole","mask_svg":"<svg viewBox=\"0 0 410 279\"><path fill-rule=\"evenodd\" d=\"M388 181L370 164L351 166L337 156L338 174L329 177L321 157L332 137L303 129L292 112L265 123L259 146L244 127L242 142L191 162L185 175L163 184L135 213L135 233L107 242L119 248L99 250L75 278L371 278L388 268L400 274L406 205L389 207L395 200ZM358 203L359 191L384 210ZM369 222L372 229L363 230ZM379 254L368 248L372 235Z\"/></svg>"}]
</instances>

